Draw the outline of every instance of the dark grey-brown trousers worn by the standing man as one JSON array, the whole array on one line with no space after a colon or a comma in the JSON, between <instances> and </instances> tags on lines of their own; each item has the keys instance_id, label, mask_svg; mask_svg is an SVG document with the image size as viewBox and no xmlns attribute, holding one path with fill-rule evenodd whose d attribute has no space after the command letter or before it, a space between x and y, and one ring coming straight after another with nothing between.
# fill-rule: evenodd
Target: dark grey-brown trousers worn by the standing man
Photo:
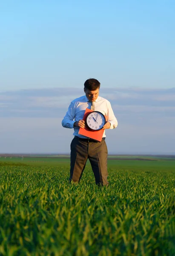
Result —
<instances>
[{"instance_id":1,"label":"dark grey-brown trousers worn by the standing man","mask_svg":"<svg viewBox=\"0 0 175 256\"><path fill-rule=\"evenodd\" d=\"M108 186L107 155L105 140L81 140L74 137L71 143L71 167L69 181L78 183L89 159L95 176L95 183Z\"/></svg>"}]
</instances>

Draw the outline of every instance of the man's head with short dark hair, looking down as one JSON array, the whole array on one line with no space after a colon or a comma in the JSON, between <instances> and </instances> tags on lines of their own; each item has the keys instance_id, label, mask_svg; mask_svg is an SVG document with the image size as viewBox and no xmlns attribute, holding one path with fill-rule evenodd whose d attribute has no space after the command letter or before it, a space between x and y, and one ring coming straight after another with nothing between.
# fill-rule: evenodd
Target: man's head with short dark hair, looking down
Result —
<instances>
[{"instance_id":1,"label":"man's head with short dark hair, looking down","mask_svg":"<svg viewBox=\"0 0 175 256\"><path fill-rule=\"evenodd\" d=\"M97 79L87 79L84 83L84 92L90 101L95 101L98 98L100 82Z\"/></svg>"}]
</instances>

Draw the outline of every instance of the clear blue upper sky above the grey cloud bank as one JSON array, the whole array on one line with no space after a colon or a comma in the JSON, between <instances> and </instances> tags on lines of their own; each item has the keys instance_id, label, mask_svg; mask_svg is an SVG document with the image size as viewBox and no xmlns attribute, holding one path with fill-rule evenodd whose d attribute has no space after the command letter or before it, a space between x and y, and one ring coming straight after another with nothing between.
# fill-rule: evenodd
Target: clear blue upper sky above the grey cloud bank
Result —
<instances>
[{"instance_id":1,"label":"clear blue upper sky above the grey cloud bank","mask_svg":"<svg viewBox=\"0 0 175 256\"><path fill-rule=\"evenodd\" d=\"M0 90L171 88L175 1L0 1Z\"/></svg>"}]
</instances>

